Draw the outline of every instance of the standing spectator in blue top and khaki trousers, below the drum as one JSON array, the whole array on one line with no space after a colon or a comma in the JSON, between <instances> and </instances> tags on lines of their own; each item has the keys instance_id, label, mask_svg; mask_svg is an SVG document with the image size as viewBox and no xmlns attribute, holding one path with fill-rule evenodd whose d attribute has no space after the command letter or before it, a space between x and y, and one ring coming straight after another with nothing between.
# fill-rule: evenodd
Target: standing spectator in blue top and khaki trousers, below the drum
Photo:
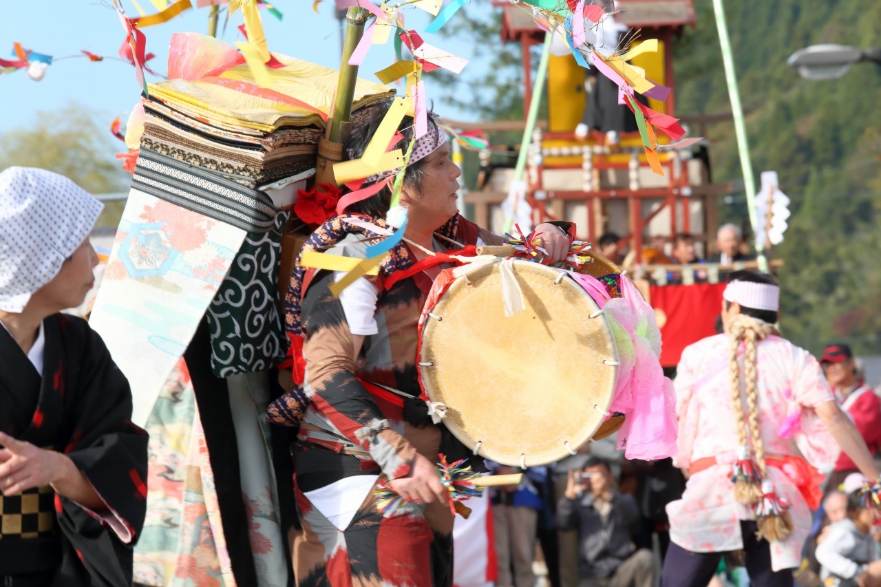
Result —
<instances>
[{"instance_id":1,"label":"standing spectator in blue top and khaki trousers, below the drum","mask_svg":"<svg viewBox=\"0 0 881 587\"><path fill-rule=\"evenodd\" d=\"M505 475L520 472L509 466L490 470ZM536 576L532 562L536 554L538 516L542 509L537 485L547 479L547 467L529 467L519 486L500 487L492 496L492 524L495 535L498 587L532 587ZM513 571L513 572L512 572Z\"/></svg>"}]
</instances>

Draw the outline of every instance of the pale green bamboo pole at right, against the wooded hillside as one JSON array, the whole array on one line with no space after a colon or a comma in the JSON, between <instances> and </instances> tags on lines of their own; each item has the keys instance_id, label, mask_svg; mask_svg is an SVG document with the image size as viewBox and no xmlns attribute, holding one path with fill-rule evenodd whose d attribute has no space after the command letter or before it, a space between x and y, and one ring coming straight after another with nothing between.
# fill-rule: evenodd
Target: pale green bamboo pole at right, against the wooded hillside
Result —
<instances>
[{"instance_id":1,"label":"pale green bamboo pole at right, against the wooded hillside","mask_svg":"<svg viewBox=\"0 0 881 587\"><path fill-rule=\"evenodd\" d=\"M713 10L716 28L719 30L719 46L722 48L722 63L725 66L725 81L728 85L728 95L731 101L731 115L734 118L734 130L737 134L737 152L740 155L740 167L744 174L746 207L750 216L752 234L756 234L756 229L759 227L759 219L756 215L756 180L752 174L750 145L747 141L746 124L744 123L744 108L740 104L737 73L734 71L734 58L731 55L731 41L728 36L728 26L725 24L725 8L722 6L722 0L713 0ZM759 254L759 269L767 273L768 264L763 242L756 242L756 252Z\"/></svg>"}]
</instances>

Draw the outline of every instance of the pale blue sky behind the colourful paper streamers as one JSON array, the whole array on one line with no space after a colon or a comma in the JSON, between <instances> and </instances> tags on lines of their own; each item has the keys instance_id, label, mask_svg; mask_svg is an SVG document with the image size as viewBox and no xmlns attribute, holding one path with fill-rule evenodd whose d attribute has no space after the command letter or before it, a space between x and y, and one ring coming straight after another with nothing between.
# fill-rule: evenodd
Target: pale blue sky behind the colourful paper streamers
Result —
<instances>
[{"instance_id":1,"label":"pale blue sky behind the colourful paper streamers","mask_svg":"<svg viewBox=\"0 0 881 587\"><path fill-rule=\"evenodd\" d=\"M122 2L129 16L138 14L131 0ZM82 49L98 55L116 56L125 33L109 4L109 0L0 0L0 57L11 59L13 42L56 58L77 55ZM150 0L137 0L137 4L148 14L155 11ZM281 22L262 11L271 51L335 69L339 67L340 26L334 16L333 0L323 0L318 13L312 10L311 0L276 0L274 4L284 13ZM164 73L167 69L168 41L172 33L205 32L208 9L196 9L196 0L193 0L193 6L192 10L165 24L144 28L147 51L156 54L150 62L155 71ZM461 18L463 15L457 16ZM406 12L406 19L408 26L418 30L426 26L431 17L413 9ZM222 31L222 21L223 17L218 36L225 41L241 41L236 30L241 25L241 14L230 19L225 32ZM448 48L466 59L473 57L469 53L474 48L438 38L438 35L426 35L426 42ZM393 63L394 59L390 42L387 46L374 46L361 67L361 77L375 79L373 72ZM475 67L469 71L472 65ZM473 74L479 66L478 63L470 64L463 75ZM430 78L430 75L426 76L429 95L432 92ZM148 75L148 81L157 81L157 78ZM0 75L0 134L33 123L41 112L62 108L71 101L93 109L100 125L106 124L109 128L116 116L130 111L139 100L139 94L134 69L119 61L93 63L86 58L65 59L49 66L46 77L39 82L28 78L25 71ZM467 113L445 114L469 118Z\"/></svg>"}]
</instances>

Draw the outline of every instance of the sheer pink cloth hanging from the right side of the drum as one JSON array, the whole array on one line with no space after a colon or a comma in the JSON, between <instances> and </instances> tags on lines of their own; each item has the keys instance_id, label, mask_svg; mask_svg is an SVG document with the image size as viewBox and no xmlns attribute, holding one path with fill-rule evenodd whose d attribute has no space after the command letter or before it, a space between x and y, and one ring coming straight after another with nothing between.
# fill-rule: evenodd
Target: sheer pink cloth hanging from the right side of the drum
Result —
<instances>
[{"instance_id":1,"label":"sheer pink cloth hanging from the right side of the drum","mask_svg":"<svg viewBox=\"0 0 881 587\"><path fill-rule=\"evenodd\" d=\"M676 392L663 375L661 331L655 310L630 279L621 276L620 298L611 298L596 278L571 274L603 308L618 346L618 380L611 412L626 415L618 431L618 449L627 458L651 460L676 455Z\"/></svg>"}]
</instances>

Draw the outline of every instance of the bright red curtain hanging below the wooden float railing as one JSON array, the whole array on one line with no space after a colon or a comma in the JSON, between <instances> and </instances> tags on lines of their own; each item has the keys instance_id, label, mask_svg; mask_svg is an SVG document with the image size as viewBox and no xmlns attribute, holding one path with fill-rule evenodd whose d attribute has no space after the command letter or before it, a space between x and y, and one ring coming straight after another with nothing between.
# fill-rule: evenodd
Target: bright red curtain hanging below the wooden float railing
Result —
<instances>
[{"instance_id":1,"label":"bright red curtain hanging below the wooden float railing","mask_svg":"<svg viewBox=\"0 0 881 587\"><path fill-rule=\"evenodd\" d=\"M661 327L663 367L676 367L686 346L716 333L716 318L722 313L725 285L697 283L649 287L652 307Z\"/></svg>"}]
</instances>

